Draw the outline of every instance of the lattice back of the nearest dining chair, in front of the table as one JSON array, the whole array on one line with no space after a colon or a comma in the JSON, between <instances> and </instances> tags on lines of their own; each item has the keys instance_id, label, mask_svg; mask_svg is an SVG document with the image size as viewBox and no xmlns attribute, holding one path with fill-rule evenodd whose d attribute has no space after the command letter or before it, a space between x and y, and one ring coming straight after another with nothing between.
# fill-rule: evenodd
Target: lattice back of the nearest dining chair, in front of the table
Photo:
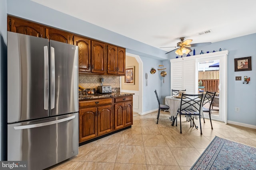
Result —
<instances>
[{"instance_id":1,"label":"lattice back of the nearest dining chair, in front of the table","mask_svg":"<svg viewBox=\"0 0 256 170\"><path fill-rule=\"evenodd\" d=\"M180 111L184 109L192 109L193 111L198 112L200 115L200 111L202 108L202 98L203 94L183 94L180 101Z\"/></svg>"}]
</instances>

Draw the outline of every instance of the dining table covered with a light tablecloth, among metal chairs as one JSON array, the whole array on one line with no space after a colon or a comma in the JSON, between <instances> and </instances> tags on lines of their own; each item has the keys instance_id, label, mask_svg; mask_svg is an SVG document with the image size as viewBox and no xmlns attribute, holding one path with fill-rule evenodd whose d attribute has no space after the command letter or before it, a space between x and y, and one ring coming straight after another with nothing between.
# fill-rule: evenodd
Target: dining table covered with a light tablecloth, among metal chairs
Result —
<instances>
[{"instance_id":1,"label":"dining table covered with a light tablecloth, among metal chairs","mask_svg":"<svg viewBox=\"0 0 256 170\"><path fill-rule=\"evenodd\" d=\"M188 100L187 98L183 98L183 100ZM200 100L200 98L196 99L196 100ZM167 106L169 106L169 112L171 117L173 118L172 120L172 126L174 125L174 121L178 112L178 109L180 109L180 102L181 102L181 96L166 96L165 97L165 104ZM195 105L194 105L195 106ZM183 107L186 107L186 105L184 105ZM198 104L196 104L196 106L198 108ZM193 109L193 107L188 107L188 109ZM199 109L199 108L198 108ZM203 109L201 108L200 110L200 115L202 118L204 118L204 112ZM195 119L198 119L198 116L194 116Z\"/></svg>"}]
</instances>

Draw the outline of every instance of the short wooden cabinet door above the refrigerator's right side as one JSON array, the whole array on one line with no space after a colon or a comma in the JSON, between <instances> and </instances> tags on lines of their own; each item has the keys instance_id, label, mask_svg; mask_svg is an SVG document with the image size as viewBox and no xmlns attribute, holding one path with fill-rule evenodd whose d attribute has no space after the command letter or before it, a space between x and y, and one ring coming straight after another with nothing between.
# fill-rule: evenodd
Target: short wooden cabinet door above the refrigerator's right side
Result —
<instances>
[{"instance_id":1,"label":"short wooden cabinet door above the refrigerator's right side","mask_svg":"<svg viewBox=\"0 0 256 170\"><path fill-rule=\"evenodd\" d=\"M59 41L67 44L73 44L73 41L72 41L73 35L68 32L60 31L54 28L46 28L45 32L46 32L45 33L46 38L48 38L49 40Z\"/></svg>"}]
</instances>

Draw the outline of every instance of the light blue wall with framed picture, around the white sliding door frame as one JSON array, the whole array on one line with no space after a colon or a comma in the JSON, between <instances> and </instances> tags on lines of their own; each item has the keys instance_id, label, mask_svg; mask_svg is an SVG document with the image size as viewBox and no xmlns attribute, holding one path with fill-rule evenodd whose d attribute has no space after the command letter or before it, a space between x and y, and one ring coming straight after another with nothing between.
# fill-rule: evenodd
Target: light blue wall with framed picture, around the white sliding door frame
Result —
<instances>
[{"instance_id":1,"label":"light blue wall with framed picture, around the white sliding door frame","mask_svg":"<svg viewBox=\"0 0 256 170\"><path fill-rule=\"evenodd\" d=\"M228 50L228 121L256 125L256 33L219 41L205 47L197 47L196 55L201 50L212 52L219 49ZM177 55L172 52L172 59ZM241 57L252 57L252 71L234 71L234 59ZM170 61L169 61L170 62ZM249 84L236 81L235 76L248 76L251 78ZM240 107L240 111L235 111Z\"/></svg>"}]
</instances>

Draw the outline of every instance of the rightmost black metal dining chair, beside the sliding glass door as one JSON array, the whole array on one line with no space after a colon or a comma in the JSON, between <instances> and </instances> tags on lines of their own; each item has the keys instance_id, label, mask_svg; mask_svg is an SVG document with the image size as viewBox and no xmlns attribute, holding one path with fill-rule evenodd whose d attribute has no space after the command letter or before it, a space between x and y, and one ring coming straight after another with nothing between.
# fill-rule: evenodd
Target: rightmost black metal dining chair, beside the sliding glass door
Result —
<instances>
[{"instance_id":1,"label":"rightmost black metal dining chair, beside the sliding glass door","mask_svg":"<svg viewBox=\"0 0 256 170\"><path fill-rule=\"evenodd\" d=\"M209 118L210 118L210 122L211 122L211 127L212 127L212 119L211 119L211 106L212 106L212 102L213 102L213 99L215 97L215 94L216 92L208 92L206 91L206 94L204 96L204 100L203 100L203 104L202 104L202 107L203 107L203 112L208 112L209 113ZM205 123L205 121L204 121ZM212 127L213 129L213 127Z\"/></svg>"}]
</instances>

